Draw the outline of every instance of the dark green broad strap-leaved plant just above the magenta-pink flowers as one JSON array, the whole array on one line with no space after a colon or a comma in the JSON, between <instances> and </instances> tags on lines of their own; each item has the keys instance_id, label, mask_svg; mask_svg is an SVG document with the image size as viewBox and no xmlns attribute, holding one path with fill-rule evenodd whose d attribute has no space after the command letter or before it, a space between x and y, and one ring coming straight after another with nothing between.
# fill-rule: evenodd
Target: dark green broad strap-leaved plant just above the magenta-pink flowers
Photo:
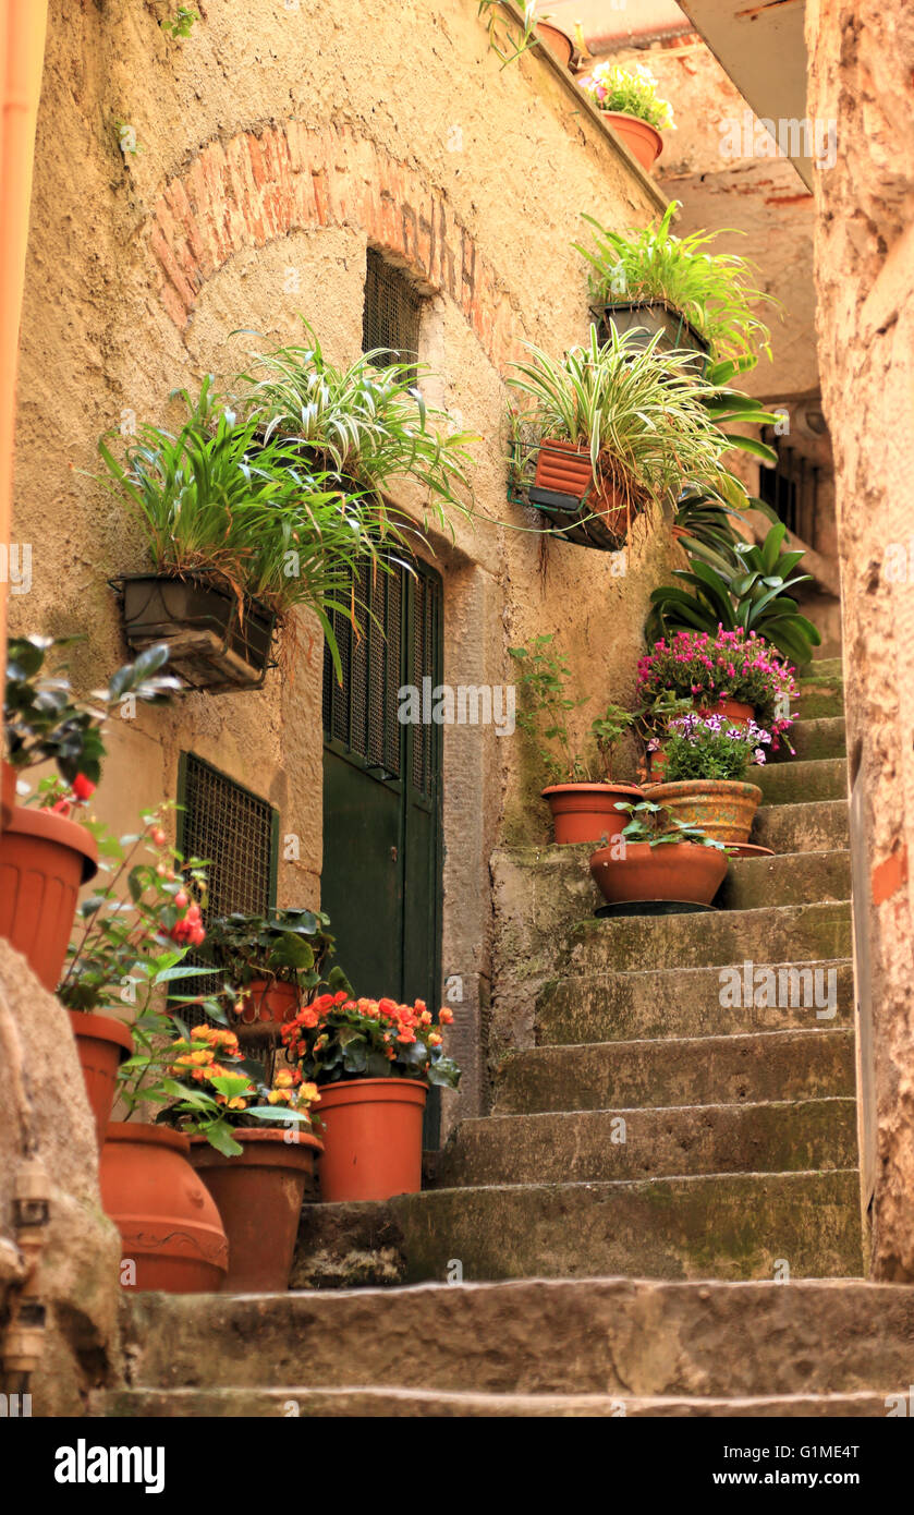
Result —
<instances>
[{"instance_id":1,"label":"dark green broad strap-leaved plant just above the magenta-pink flowers","mask_svg":"<svg viewBox=\"0 0 914 1515\"><path fill-rule=\"evenodd\" d=\"M755 632L772 642L794 664L810 661L813 647L822 636L801 614L790 591L808 583L811 574L797 574L802 551L782 551L787 529L772 526L764 542L738 542L735 567L713 568L693 559L692 568L675 568L679 585L664 585L651 595L651 612L645 627L648 642L669 639L681 630L725 632L741 629Z\"/></svg>"}]
</instances>

